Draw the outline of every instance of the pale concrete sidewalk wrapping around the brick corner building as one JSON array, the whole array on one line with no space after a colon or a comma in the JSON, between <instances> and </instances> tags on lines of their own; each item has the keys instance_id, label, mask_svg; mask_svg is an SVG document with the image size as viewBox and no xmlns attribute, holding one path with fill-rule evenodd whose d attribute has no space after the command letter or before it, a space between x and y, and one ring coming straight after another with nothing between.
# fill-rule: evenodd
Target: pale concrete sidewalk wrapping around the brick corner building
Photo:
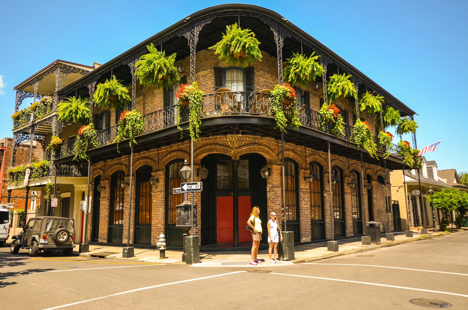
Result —
<instances>
[{"instance_id":1,"label":"pale concrete sidewalk wrapping around the brick corner building","mask_svg":"<svg viewBox=\"0 0 468 310\"><path fill-rule=\"evenodd\" d=\"M461 231L463 229L454 229L454 231ZM407 237L404 232L395 233L395 241L388 241L385 238L385 234L381 234L381 243L372 245L362 245L361 238L347 238L338 240L339 251L333 252L328 251L327 242L300 245L294 248L295 259L292 261L281 261L280 264L270 263L268 250L258 252L258 259L262 260L263 263L256 266L250 265L250 251L235 251L235 252L215 252L215 253L203 253L203 249L200 249L200 264L194 264L194 267L273 267L273 266L285 266L298 263L304 263L319 259L331 258L340 255L372 251L387 246L396 244L408 243L412 241L422 240L424 238L432 238L446 235L444 232L433 233L429 231L429 234L423 235L421 233L413 233L413 237ZM122 247L116 246L105 246L105 245L89 245L90 252L80 253L80 256L91 257L97 253L102 253L101 257L107 259L121 259L140 261L148 263L169 263L169 264L183 264L182 262L182 251L168 251L166 250L166 258L159 258L158 250L148 250L135 248L135 257L133 258L122 258Z\"/></svg>"}]
</instances>

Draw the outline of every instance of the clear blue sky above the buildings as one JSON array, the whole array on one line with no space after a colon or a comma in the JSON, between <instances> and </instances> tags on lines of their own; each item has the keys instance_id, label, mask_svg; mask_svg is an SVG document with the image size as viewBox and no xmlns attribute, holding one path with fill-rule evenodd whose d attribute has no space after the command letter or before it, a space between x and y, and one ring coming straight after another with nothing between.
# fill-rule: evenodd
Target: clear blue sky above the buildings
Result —
<instances>
[{"instance_id":1,"label":"clear blue sky above the buildings","mask_svg":"<svg viewBox=\"0 0 468 310\"><path fill-rule=\"evenodd\" d=\"M191 13L221 3L2 1L0 138L12 136L13 87L52 61L105 63ZM468 153L466 1L248 3L283 15L416 111L418 147L444 140L426 154L439 170L468 171L463 155Z\"/></svg>"}]
</instances>

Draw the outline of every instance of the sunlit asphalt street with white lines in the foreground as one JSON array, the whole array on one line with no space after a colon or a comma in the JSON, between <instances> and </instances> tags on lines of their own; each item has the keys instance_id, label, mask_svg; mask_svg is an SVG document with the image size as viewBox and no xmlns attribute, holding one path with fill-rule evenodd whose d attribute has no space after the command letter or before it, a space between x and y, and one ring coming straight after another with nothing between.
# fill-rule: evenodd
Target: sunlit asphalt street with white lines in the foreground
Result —
<instances>
[{"instance_id":1,"label":"sunlit asphalt street with white lines in the foreground","mask_svg":"<svg viewBox=\"0 0 468 310\"><path fill-rule=\"evenodd\" d=\"M0 248L5 310L425 309L413 299L439 301L429 302L432 309L447 303L468 309L468 231L268 268L132 264L42 252L29 258L25 250L12 255Z\"/></svg>"}]
</instances>

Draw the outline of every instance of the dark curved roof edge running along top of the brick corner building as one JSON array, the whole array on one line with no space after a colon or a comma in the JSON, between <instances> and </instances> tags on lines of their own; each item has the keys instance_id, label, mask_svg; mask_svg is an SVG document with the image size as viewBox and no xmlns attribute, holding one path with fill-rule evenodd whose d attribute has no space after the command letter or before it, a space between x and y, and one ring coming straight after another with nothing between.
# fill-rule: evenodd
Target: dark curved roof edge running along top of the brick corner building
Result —
<instances>
[{"instance_id":1,"label":"dark curved roof edge running along top of the brick corner building","mask_svg":"<svg viewBox=\"0 0 468 310\"><path fill-rule=\"evenodd\" d=\"M374 82L372 79L370 79L368 76L366 76L365 74L363 74L361 71L359 71L357 68L355 68L354 66L352 66L350 63L348 63L346 60L344 60L343 58L341 58L340 56L338 56L335 52L333 52L332 50L330 50L327 46L323 45L321 42L319 42L317 39L315 39L314 37L312 37L311 35L309 35L307 32L305 32L304 30L301 30L299 27L297 27L296 25L294 25L292 22L289 22L286 18L284 18L282 15L279 15L277 12L275 11L272 11L268 8L265 8L265 7L259 7L259 6L256 6L256 5L252 5L252 4L239 4L239 3L229 3L229 4L219 4L219 5L216 5L216 6L212 6L212 7L207 7L207 8L204 8L204 9L201 9L183 19L181 19L180 21L172 24L171 26L169 26L168 28L164 29L164 30L161 30L160 32L156 33L154 36L152 37L149 37L147 38L146 40L140 42L139 44L133 46L132 48L130 48L129 50L121 53L120 55L114 57L113 59L110 59L109 61L107 61L106 63L104 63L102 66L100 66L99 68L95 69L93 71L93 73L91 74L91 76L94 76L96 74L99 74L100 72L104 71L105 69L107 69L108 67L112 66L114 63L118 62L119 60L122 60L128 56L130 56L132 53L134 52L137 52L138 50L144 48L146 45L149 45L150 43L156 41L157 39L161 38L161 37L164 37L165 35L183 27L184 25L187 25L188 23L187 22L192 22L194 20L196 20L197 18L200 18L204 15L208 15L208 14L213 14L213 13L216 13L216 12L222 12L222 11L229 11L229 10L247 10L247 11L253 11L253 12L257 12L257 13L261 13L261 14L264 14L264 15L267 15L273 19L275 19L277 22L281 23L283 26L285 26L286 28L289 28L290 30L292 30L293 32L296 32L297 34L299 34L300 36L306 38L308 41L310 41L312 44L314 44L315 46L317 46L318 48L322 49L324 52L326 52L327 54L329 54L329 56L331 56L332 58L334 58L336 61L340 62L343 66L347 66L349 67L351 70L355 71L360 78L362 78L363 80L367 81L369 84L373 85L376 89L379 89L380 92L385 95L385 96L388 96L390 99L392 99L393 101L395 101L395 103L397 105L400 105L402 108L406 109L405 112L409 112L409 114L416 114L415 111L411 110L406 104L402 103L400 100L398 100L395 96L391 95L387 90L383 89L379 84L377 84L376 82ZM88 79L88 74L82 76L80 79L74 81L73 83L70 83L68 84L66 87L64 87L63 89L60 89L59 90L59 93L62 92L62 91L65 91L66 89L69 89L69 88L73 88L75 87L76 85L78 85L81 81L83 81L84 79ZM381 94L381 95L382 95Z\"/></svg>"}]
</instances>

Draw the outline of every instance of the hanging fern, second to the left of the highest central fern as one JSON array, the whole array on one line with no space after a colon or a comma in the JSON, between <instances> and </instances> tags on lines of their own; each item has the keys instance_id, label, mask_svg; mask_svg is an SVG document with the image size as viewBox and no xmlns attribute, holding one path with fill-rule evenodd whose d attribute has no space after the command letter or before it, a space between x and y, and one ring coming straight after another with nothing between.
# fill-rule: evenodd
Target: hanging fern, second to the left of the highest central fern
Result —
<instances>
[{"instance_id":1,"label":"hanging fern, second to the left of the highest central fern","mask_svg":"<svg viewBox=\"0 0 468 310\"><path fill-rule=\"evenodd\" d=\"M132 98L128 94L128 87L124 86L122 82L123 80L117 80L113 75L112 79L106 79L104 83L99 83L93 99L96 106L124 108L126 104L131 103Z\"/></svg>"}]
</instances>

